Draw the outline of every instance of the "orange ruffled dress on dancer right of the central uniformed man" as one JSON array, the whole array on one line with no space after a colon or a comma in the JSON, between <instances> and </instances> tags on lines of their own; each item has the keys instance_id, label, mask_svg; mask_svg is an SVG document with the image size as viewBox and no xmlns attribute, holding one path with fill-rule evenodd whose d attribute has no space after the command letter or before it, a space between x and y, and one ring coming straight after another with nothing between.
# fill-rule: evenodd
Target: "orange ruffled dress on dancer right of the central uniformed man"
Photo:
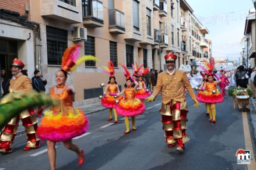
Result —
<instances>
[{"instance_id":1,"label":"orange ruffled dress on dancer right of the central uniformed man","mask_svg":"<svg viewBox=\"0 0 256 170\"><path fill-rule=\"evenodd\" d=\"M216 94L213 94L213 90L216 90ZM216 84L214 82L207 82L205 91L197 93L197 100L203 103L220 103L224 98L219 90L216 89Z\"/></svg>"}]
</instances>

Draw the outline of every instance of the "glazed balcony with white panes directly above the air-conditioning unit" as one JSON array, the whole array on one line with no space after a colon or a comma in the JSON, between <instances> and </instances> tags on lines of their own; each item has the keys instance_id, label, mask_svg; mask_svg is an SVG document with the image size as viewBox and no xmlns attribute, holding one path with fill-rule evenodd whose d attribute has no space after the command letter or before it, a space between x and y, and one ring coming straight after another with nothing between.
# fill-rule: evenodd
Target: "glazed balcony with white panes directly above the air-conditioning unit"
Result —
<instances>
[{"instance_id":1,"label":"glazed balcony with white panes directly above the air-conditioning unit","mask_svg":"<svg viewBox=\"0 0 256 170\"><path fill-rule=\"evenodd\" d=\"M99 0L82 0L83 24L103 27L103 3Z\"/></svg>"}]
</instances>

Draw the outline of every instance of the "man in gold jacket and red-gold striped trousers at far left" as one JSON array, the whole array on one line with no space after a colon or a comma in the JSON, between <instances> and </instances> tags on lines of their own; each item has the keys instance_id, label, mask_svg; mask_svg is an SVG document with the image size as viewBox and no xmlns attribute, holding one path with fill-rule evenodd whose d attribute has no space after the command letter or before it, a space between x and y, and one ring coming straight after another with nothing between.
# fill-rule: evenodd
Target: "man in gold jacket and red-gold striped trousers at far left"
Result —
<instances>
[{"instance_id":1,"label":"man in gold jacket and red-gold striped trousers at far left","mask_svg":"<svg viewBox=\"0 0 256 170\"><path fill-rule=\"evenodd\" d=\"M22 74L24 64L21 60L14 59L12 61L12 79L10 80L9 92L16 93L17 91L28 92L32 90L31 80ZM28 143L24 150L30 150L40 147L40 139L37 137L37 118L35 110L30 108L22 111L18 116L12 118L5 125L0 135L0 152L12 152L12 143L17 132L19 120L22 119L22 125L25 127Z\"/></svg>"}]
</instances>

